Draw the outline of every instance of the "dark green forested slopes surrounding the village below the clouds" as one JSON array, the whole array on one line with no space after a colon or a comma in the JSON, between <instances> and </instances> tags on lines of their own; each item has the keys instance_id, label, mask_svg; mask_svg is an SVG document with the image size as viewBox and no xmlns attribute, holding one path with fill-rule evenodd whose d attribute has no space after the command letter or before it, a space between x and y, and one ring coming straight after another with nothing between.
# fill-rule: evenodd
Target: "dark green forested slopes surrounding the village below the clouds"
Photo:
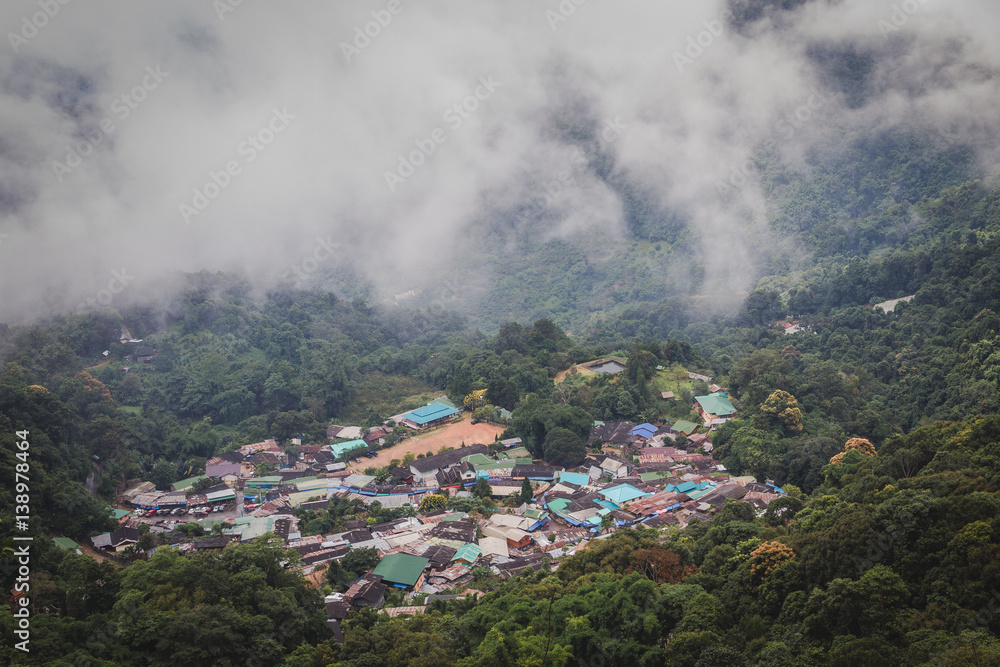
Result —
<instances>
[{"instance_id":1,"label":"dark green forested slopes surrounding the village below the clouds","mask_svg":"<svg viewBox=\"0 0 1000 667\"><path fill-rule=\"evenodd\" d=\"M702 293L691 232L636 199L629 236L601 252L552 239L494 257L492 287L467 314L262 294L202 272L166 304L0 326L0 473L14 478L15 434L28 431L32 586L47 610L32 653L5 647L4 659L996 664L1000 191L965 179L959 146L891 133L845 145L798 174L760 157L772 232L798 250L762 252L736 309ZM872 307L904 296L890 313ZM622 373L571 370L610 356ZM286 571L297 556L267 539L162 550L123 570L49 539L111 528L124 480L165 489L239 445L325 442L331 423L376 426L441 395L479 392L477 417L511 411L508 436L572 466L594 420L688 416L707 385L671 379L686 371L739 402L713 434L715 457L794 495L763 516L734 503L683 530L617 531L553 573L493 582L478 602L414 619L359 613L343 644L319 592ZM675 388L680 401L661 398ZM854 438L874 451L841 455ZM16 497L0 491L5 535ZM5 633L12 623L0 619Z\"/></svg>"}]
</instances>

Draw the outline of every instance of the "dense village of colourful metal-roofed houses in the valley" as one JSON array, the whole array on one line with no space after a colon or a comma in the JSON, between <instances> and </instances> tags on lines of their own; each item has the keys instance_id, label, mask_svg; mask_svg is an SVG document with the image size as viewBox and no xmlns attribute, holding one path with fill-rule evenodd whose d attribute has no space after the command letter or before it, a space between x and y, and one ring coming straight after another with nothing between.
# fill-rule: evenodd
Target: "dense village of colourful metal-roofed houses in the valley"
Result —
<instances>
[{"instance_id":1,"label":"dense village of colourful metal-roofed houses in the valley","mask_svg":"<svg viewBox=\"0 0 1000 667\"><path fill-rule=\"evenodd\" d=\"M572 468L534 458L520 438L501 440L501 427L477 424L445 397L384 426L331 425L323 444L265 440L209 459L204 474L169 491L126 484L113 510L120 528L91 541L109 557L136 557L142 535L154 534L158 546L148 557L163 546L219 550L273 534L317 586L334 561L371 550L377 565L326 598L328 625L342 638L340 621L358 608L421 613L441 596L481 594L474 586L484 577L554 569L622 527L682 528L711 519L727 500L763 513L784 492L731 474L712 457L713 430L738 409L722 387L709 389L693 397L700 423L595 421L586 459ZM386 446L399 425L412 435ZM466 441L470 436L480 441ZM489 499L489 507L476 499ZM344 501L364 518L343 521L338 532L302 533L304 517ZM378 522L386 511L396 518ZM62 539L64 548L79 547ZM397 604L387 604L389 597Z\"/></svg>"}]
</instances>

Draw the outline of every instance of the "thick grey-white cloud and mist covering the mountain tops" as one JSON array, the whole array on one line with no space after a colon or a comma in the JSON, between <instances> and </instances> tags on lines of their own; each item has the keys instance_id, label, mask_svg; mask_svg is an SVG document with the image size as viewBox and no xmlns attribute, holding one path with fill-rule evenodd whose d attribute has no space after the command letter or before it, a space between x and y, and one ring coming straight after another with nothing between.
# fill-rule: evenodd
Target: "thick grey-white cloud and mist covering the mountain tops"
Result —
<instances>
[{"instance_id":1,"label":"thick grey-white cloud and mist covering the mountain tops","mask_svg":"<svg viewBox=\"0 0 1000 667\"><path fill-rule=\"evenodd\" d=\"M391 294L560 179L532 233L613 238L581 127L724 276L753 257L718 184L761 141L796 159L839 123L940 127L996 163L995 0L811 2L742 33L719 1L235 2L0 6L0 321L172 270L266 284L336 263L331 241ZM865 104L809 57L829 45L891 55ZM752 174L736 196L766 227Z\"/></svg>"}]
</instances>

